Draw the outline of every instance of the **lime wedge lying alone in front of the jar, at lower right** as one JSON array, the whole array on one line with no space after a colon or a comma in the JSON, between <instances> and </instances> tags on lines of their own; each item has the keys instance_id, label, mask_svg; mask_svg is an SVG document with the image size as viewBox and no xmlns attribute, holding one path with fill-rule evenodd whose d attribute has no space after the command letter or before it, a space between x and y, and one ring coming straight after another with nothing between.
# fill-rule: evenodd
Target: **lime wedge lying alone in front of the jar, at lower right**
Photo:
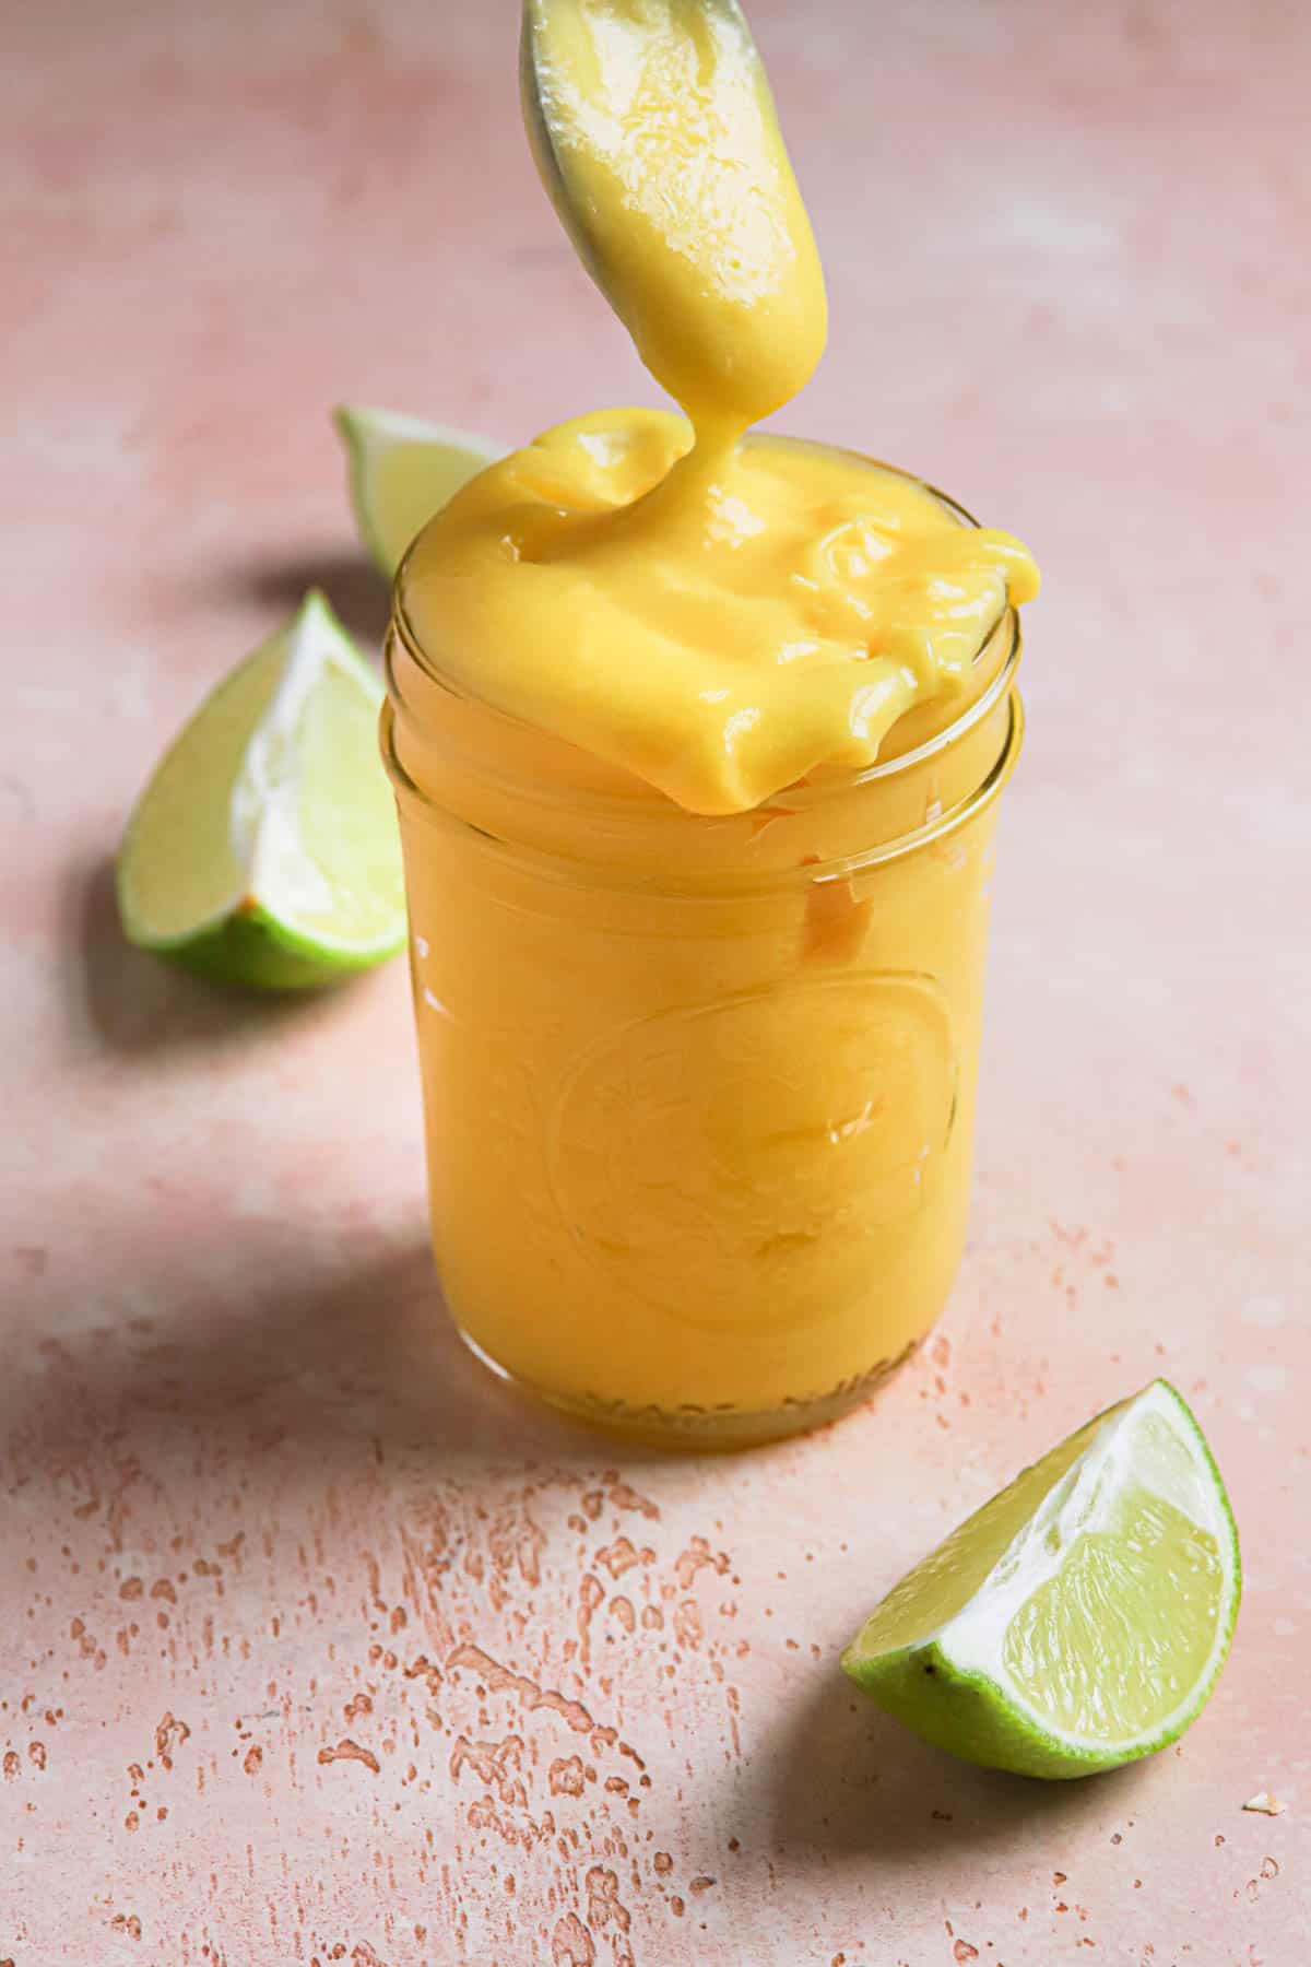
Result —
<instances>
[{"instance_id":1,"label":"lime wedge lying alone in front of the jar, at lower right","mask_svg":"<svg viewBox=\"0 0 1311 1967\"><path fill-rule=\"evenodd\" d=\"M1240 1589L1225 1483L1158 1379L953 1530L841 1664L967 1762L1085 1776L1164 1749L1197 1719Z\"/></svg>"}]
</instances>

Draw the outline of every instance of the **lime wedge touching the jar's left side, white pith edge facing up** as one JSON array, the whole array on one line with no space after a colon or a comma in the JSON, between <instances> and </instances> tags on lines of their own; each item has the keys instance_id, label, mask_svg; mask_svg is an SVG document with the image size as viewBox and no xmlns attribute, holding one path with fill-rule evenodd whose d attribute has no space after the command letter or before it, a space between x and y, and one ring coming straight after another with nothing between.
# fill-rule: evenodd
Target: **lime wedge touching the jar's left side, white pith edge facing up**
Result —
<instances>
[{"instance_id":1,"label":"lime wedge touching the jar's left side, white pith edge facing up","mask_svg":"<svg viewBox=\"0 0 1311 1967\"><path fill-rule=\"evenodd\" d=\"M200 704L118 856L128 938L202 976L330 984L405 942L381 685L322 594Z\"/></svg>"}]
</instances>

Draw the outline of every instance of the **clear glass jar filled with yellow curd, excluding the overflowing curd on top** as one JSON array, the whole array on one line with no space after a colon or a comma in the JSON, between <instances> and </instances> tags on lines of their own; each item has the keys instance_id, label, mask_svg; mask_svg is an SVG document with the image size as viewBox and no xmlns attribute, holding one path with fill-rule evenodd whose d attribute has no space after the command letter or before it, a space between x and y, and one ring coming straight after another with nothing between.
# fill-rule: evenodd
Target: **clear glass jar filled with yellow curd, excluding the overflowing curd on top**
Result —
<instances>
[{"instance_id":1,"label":"clear glass jar filled with yellow curd, excluding the overflowing curd on top","mask_svg":"<svg viewBox=\"0 0 1311 1967\"><path fill-rule=\"evenodd\" d=\"M460 1334L643 1438L831 1420L965 1243L1014 614L871 769L702 818L454 690L405 572L383 753Z\"/></svg>"}]
</instances>

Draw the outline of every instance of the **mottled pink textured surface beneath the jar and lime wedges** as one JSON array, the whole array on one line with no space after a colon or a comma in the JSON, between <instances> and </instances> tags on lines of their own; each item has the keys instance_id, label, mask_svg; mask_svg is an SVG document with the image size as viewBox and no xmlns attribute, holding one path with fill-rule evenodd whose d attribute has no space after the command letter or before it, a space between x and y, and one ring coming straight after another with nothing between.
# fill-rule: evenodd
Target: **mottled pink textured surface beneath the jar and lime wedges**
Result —
<instances>
[{"instance_id":1,"label":"mottled pink textured surface beneath the jar and lime wedges","mask_svg":"<svg viewBox=\"0 0 1311 1967\"><path fill-rule=\"evenodd\" d=\"M505 439L649 399L513 16L10 22L0 1959L1291 1967L1311 18L757 0L835 321L790 423L1014 527L1048 594L943 1330L839 1430L698 1463L458 1355L401 966L228 1001L120 944L106 875L311 578L381 622L334 399ZM1158 1371L1248 1560L1181 1751L1048 1790L859 1705L869 1603Z\"/></svg>"}]
</instances>

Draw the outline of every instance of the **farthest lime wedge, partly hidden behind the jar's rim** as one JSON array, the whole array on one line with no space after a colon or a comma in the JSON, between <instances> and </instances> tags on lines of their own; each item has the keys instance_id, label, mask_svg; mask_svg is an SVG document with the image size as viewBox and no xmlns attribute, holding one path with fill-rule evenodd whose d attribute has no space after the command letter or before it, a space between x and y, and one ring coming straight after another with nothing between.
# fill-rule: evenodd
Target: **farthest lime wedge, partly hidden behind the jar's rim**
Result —
<instances>
[{"instance_id":1,"label":"farthest lime wedge, partly hidden behind the jar's rim","mask_svg":"<svg viewBox=\"0 0 1311 1967\"><path fill-rule=\"evenodd\" d=\"M350 458L350 504L356 525L391 580L415 533L495 458L499 445L470 431L448 431L397 409L334 411Z\"/></svg>"}]
</instances>

